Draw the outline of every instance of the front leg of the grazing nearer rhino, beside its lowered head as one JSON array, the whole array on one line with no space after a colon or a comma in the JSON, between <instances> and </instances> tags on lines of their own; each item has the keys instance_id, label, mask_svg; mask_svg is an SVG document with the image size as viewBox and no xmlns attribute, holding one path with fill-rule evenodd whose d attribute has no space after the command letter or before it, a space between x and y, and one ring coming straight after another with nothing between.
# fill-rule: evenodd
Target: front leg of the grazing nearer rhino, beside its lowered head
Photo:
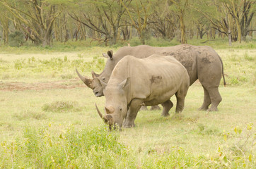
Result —
<instances>
[{"instance_id":1,"label":"front leg of the grazing nearer rhino, beside its lowered head","mask_svg":"<svg viewBox=\"0 0 256 169\"><path fill-rule=\"evenodd\" d=\"M139 108L141 108L141 104L143 103L144 103L144 100L141 100L141 99L133 99L131 101L129 110L127 111L126 119L124 121L125 128L135 127L134 120L139 111Z\"/></svg>"}]
</instances>

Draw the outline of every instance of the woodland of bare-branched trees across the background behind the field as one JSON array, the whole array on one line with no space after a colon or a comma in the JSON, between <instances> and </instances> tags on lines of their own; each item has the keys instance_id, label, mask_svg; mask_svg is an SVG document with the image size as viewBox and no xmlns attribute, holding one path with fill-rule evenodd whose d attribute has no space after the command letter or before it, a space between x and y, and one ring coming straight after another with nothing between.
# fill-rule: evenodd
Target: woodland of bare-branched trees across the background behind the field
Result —
<instances>
[{"instance_id":1,"label":"woodland of bare-branched trees across the background behind the field","mask_svg":"<svg viewBox=\"0 0 256 169\"><path fill-rule=\"evenodd\" d=\"M172 40L252 39L253 0L0 0L0 44L52 46L90 40L127 44L139 38ZM28 44L28 43L27 43Z\"/></svg>"}]
</instances>

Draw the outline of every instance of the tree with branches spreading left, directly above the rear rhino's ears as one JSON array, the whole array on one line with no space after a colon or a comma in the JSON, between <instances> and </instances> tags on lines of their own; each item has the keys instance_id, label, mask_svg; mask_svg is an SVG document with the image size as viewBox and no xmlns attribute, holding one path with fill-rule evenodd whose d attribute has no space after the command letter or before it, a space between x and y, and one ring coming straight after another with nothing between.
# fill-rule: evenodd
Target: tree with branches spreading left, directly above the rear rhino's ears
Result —
<instances>
[{"instance_id":1,"label":"tree with branches spreading left, directly above the rear rhino's ears","mask_svg":"<svg viewBox=\"0 0 256 169\"><path fill-rule=\"evenodd\" d=\"M117 1L76 1L73 11L69 13L71 18L86 25L91 30L105 35L105 41L109 40L110 44L116 44L117 34L122 16L124 14L124 6L129 6L130 0ZM77 7L77 8L76 8Z\"/></svg>"}]
</instances>

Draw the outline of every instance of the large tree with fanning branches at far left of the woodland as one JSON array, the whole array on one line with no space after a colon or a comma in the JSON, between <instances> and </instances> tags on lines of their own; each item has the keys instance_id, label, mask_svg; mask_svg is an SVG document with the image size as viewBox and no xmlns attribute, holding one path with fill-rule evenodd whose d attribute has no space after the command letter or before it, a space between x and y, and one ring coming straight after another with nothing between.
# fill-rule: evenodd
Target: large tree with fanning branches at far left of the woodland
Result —
<instances>
[{"instance_id":1,"label":"large tree with fanning branches at far left of the woodland","mask_svg":"<svg viewBox=\"0 0 256 169\"><path fill-rule=\"evenodd\" d=\"M0 3L16 20L10 17L8 19L20 25L35 44L50 45L54 21L62 13L61 4L54 4L50 0L1 0Z\"/></svg>"}]
</instances>

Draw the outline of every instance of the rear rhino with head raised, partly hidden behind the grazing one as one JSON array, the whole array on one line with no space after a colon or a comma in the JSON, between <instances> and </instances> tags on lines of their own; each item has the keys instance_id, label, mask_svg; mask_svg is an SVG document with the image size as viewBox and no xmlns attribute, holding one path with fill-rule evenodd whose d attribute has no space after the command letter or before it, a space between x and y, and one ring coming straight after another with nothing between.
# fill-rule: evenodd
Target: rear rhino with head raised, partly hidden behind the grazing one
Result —
<instances>
[{"instance_id":1,"label":"rear rhino with head raised, partly hidden behind the grazing one","mask_svg":"<svg viewBox=\"0 0 256 169\"><path fill-rule=\"evenodd\" d=\"M86 85L88 87L93 89L95 96L102 96L103 87L99 80L107 83L118 61L127 55L132 55L136 58L146 58L152 54L161 56L172 55L180 61L190 76L190 85L198 79L204 88L204 102L199 110L218 111L217 107L222 100L221 94L219 94L219 83L221 81L221 74L223 75L223 63L220 56L210 46L192 46L190 44L170 47L124 46L117 50L115 55L112 51L107 51L107 54L103 54L107 58L105 68L99 75L93 73L93 79L78 75L84 83L87 82ZM93 83L93 85L90 86L88 83ZM224 76L223 84L226 85ZM211 107L209 108L210 104Z\"/></svg>"}]
</instances>

